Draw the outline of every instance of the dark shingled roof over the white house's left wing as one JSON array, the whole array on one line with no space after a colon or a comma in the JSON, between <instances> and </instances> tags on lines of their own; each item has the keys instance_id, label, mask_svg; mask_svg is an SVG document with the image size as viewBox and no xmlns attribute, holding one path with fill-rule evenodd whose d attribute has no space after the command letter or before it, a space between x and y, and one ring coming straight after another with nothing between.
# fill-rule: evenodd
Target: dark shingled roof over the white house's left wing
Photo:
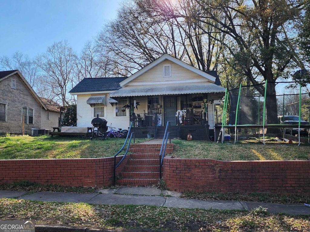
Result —
<instances>
[{"instance_id":1,"label":"dark shingled roof over the white house's left wing","mask_svg":"<svg viewBox=\"0 0 310 232\"><path fill-rule=\"evenodd\" d=\"M69 93L115 91L127 77L84 78Z\"/></svg>"}]
</instances>

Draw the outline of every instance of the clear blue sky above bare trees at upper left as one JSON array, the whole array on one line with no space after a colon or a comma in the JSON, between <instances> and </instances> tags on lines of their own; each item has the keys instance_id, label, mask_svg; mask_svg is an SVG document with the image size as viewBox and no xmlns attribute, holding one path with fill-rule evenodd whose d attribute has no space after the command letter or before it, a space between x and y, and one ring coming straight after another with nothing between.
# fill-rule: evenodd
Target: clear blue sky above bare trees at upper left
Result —
<instances>
[{"instance_id":1,"label":"clear blue sky above bare trees at upper left","mask_svg":"<svg viewBox=\"0 0 310 232\"><path fill-rule=\"evenodd\" d=\"M0 56L30 58L66 39L76 52L114 19L121 0L0 0Z\"/></svg>"}]
</instances>

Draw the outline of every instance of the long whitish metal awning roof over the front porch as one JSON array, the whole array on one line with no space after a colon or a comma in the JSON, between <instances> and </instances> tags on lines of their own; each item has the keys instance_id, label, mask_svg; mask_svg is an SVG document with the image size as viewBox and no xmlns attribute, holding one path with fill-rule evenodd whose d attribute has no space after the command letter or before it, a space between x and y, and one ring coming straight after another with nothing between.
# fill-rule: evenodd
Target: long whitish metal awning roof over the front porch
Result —
<instances>
[{"instance_id":1,"label":"long whitish metal awning roof over the front porch","mask_svg":"<svg viewBox=\"0 0 310 232\"><path fill-rule=\"evenodd\" d=\"M178 83L158 85L130 85L111 92L109 97L176 95L189 93L220 93L224 96L225 88L212 83Z\"/></svg>"}]
</instances>

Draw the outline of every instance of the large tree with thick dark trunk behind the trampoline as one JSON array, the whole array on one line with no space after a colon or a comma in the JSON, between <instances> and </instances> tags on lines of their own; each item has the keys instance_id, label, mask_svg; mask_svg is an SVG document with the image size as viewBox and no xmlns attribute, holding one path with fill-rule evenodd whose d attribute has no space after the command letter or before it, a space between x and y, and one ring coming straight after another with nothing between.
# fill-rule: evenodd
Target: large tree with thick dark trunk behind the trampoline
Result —
<instances>
[{"instance_id":1,"label":"large tree with thick dark trunk behind the trampoline","mask_svg":"<svg viewBox=\"0 0 310 232\"><path fill-rule=\"evenodd\" d=\"M140 1L153 14L167 18L184 18L180 11L169 11L164 0ZM263 80L269 82L266 105L268 123L277 123L277 99L275 81L286 75L290 66L298 63L299 54L294 49L296 19L302 14L300 0L183 0L184 6L200 6L195 15L197 24L204 30L210 26L225 34L222 45L225 58L233 69L241 71L252 84ZM298 63L299 64L299 63ZM257 85L257 91L264 95L264 87Z\"/></svg>"}]
</instances>

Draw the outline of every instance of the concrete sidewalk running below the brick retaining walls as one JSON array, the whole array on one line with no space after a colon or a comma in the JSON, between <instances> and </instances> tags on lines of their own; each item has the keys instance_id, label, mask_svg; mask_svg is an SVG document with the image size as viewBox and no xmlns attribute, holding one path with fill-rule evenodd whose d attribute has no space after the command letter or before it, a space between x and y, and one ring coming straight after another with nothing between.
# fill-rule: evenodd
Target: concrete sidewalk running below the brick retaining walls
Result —
<instances>
[{"instance_id":1,"label":"concrete sidewalk running below the brick retaining walls","mask_svg":"<svg viewBox=\"0 0 310 232\"><path fill-rule=\"evenodd\" d=\"M91 204L135 204L175 208L239 209L252 210L259 206L269 213L310 215L310 208L303 204L271 204L262 202L214 201L179 198L181 193L151 187L119 187L103 189L98 193L0 191L0 198L17 198L36 201L84 202Z\"/></svg>"}]
</instances>

